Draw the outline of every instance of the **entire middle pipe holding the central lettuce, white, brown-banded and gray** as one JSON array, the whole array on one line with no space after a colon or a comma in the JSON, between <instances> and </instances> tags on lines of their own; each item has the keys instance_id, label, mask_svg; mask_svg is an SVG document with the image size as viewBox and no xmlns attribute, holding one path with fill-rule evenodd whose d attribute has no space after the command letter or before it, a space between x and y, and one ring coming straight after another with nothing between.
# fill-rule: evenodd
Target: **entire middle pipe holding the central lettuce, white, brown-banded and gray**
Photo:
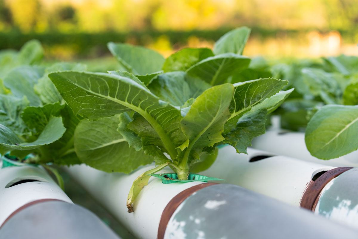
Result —
<instances>
[{"instance_id":1,"label":"entire middle pipe holding the central lettuce, white, brown-banded and gray","mask_svg":"<svg viewBox=\"0 0 358 239\"><path fill-rule=\"evenodd\" d=\"M163 184L152 177L128 213L134 179L89 166L69 174L138 238L357 238L358 231L235 185L189 182ZM162 171L160 173L166 173Z\"/></svg>"}]
</instances>

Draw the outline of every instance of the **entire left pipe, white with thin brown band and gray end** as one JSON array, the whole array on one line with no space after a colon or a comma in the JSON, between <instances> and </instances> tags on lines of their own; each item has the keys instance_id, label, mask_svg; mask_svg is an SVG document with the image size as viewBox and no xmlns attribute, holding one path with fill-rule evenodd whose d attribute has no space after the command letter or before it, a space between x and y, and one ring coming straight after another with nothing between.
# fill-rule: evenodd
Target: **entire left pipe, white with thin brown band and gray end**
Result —
<instances>
[{"instance_id":1,"label":"entire left pipe, white with thin brown band and gray end","mask_svg":"<svg viewBox=\"0 0 358 239\"><path fill-rule=\"evenodd\" d=\"M74 205L43 167L11 163L5 167L0 159L0 238L118 239L118 236L95 214Z\"/></svg>"}]
</instances>

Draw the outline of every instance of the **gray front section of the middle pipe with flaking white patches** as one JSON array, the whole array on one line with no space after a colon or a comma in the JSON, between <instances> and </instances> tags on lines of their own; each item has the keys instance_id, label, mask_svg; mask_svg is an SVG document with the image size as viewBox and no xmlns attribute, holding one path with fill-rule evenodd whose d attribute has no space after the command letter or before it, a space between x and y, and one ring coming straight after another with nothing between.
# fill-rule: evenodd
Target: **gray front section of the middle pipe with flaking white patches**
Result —
<instances>
[{"instance_id":1,"label":"gray front section of the middle pipe with flaking white patches","mask_svg":"<svg viewBox=\"0 0 358 239\"><path fill-rule=\"evenodd\" d=\"M352 228L236 185L198 190L161 226L165 239L358 238Z\"/></svg>"}]
</instances>

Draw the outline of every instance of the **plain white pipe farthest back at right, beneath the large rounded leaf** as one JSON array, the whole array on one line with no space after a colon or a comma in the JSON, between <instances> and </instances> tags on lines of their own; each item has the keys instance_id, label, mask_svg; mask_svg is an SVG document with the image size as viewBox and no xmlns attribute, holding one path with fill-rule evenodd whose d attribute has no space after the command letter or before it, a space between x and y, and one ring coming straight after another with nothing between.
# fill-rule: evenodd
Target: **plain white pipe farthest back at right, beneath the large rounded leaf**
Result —
<instances>
[{"instance_id":1,"label":"plain white pipe farthest back at right, beneath the large rounded leaf","mask_svg":"<svg viewBox=\"0 0 358 239\"><path fill-rule=\"evenodd\" d=\"M358 167L358 151L330 160L313 157L306 147L305 133L303 132L287 132L277 128L267 130L265 134L252 140L252 147L334 167Z\"/></svg>"}]
</instances>

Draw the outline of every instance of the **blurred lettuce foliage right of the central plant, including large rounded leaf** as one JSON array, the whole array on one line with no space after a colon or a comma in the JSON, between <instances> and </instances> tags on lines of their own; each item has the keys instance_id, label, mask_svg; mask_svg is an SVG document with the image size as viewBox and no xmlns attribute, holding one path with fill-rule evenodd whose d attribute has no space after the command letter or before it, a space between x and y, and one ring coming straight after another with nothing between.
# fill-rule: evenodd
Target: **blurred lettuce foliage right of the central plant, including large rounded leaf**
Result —
<instances>
[{"instance_id":1,"label":"blurred lettuce foliage right of the central plant, including large rounded leaf","mask_svg":"<svg viewBox=\"0 0 358 239\"><path fill-rule=\"evenodd\" d=\"M320 159L358 149L358 57L326 57L271 70L296 89L295 99L281 105L282 128L305 131L307 149Z\"/></svg>"}]
</instances>

